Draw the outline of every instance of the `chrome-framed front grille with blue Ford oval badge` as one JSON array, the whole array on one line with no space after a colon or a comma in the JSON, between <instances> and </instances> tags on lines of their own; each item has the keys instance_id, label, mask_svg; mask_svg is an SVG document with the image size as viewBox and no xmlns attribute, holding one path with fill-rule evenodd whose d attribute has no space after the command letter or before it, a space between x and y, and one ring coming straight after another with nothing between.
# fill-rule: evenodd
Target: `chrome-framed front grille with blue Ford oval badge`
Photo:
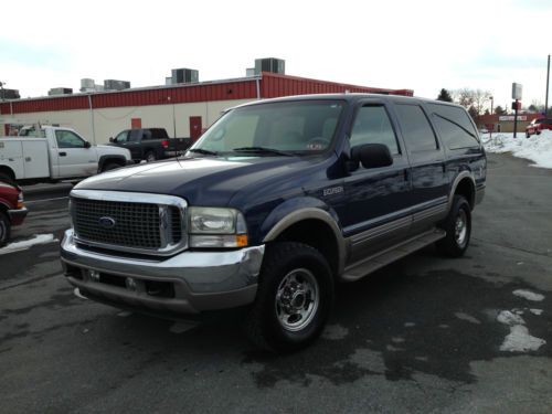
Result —
<instances>
[{"instance_id":1,"label":"chrome-framed front grille with blue Ford oval badge","mask_svg":"<svg viewBox=\"0 0 552 414\"><path fill-rule=\"evenodd\" d=\"M169 255L187 246L185 202L170 195L74 190L77 241L124 252Z\"/></svg>"}]
</instances>

